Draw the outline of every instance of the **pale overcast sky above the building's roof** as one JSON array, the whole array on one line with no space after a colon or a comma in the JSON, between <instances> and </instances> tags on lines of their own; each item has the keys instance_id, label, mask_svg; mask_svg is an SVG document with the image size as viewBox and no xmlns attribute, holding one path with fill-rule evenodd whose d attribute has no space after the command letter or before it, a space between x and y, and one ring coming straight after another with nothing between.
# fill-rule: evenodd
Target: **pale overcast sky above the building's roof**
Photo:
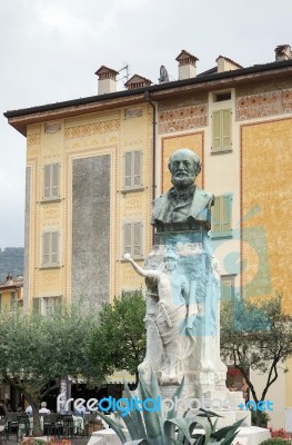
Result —
<instances>
[{"instance_id":1,"label":"pale overcast sky above the building's roof","mask_svg":"<svg viewBox=\"0 0 292 445\"><path fill-rule=\"evenodd\" d=\"M3 112L93 96L101 65L157 83L182 49L243 67L292 44L291 0L0 0L0 248L23 246L26 138ZM124 73L124 71L122 71ZM121 75L122 77L122 75ZM123 89L119 81L118 89Z\"/></svg>"}]
</instances>

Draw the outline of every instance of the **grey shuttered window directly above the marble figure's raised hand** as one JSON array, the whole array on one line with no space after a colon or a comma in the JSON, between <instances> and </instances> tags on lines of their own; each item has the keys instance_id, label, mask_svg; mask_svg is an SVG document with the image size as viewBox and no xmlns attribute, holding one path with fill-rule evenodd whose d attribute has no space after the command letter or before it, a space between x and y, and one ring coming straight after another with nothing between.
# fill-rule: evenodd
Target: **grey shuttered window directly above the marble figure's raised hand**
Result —
<instances>
[{"instance_id":1,"label":"grey shuttered window directly above the marble figure's raised hand","mask_svg":"<svg viewBox=\"0 0 292 445\"><path fill-rule=\"evenodd\" d=\"M130 254L132 258L142 257L143 225L138 222L124 222L123 234L123 255Z\"/></svg>"}]
</instances>

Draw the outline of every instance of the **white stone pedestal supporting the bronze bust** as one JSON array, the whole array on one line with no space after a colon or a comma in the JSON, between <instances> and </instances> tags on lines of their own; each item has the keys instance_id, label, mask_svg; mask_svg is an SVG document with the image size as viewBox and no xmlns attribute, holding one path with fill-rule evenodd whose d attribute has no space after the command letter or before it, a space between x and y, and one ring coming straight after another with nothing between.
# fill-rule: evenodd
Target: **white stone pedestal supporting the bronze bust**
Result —
<instances>
[{"instance_id":1,"label":"white stone pedestal supporting the bronze bust","mask_svg":"<svg viewBox=\"0 0 292 445\"><path fill-rule=\"evenodd\" d=\"M161 308L157 283L147 278L147 355L139 372L148 380L155 373L162 398L170 399L184 378L180 409L205 408L222 415L220 426L230 425L250 413L241 392L225 386L226 366L220 358L220 275L209 238L202 230L155 234L145 270L162 270L163 258L173 253L177 271L190 283L190 299L182 308ZM175 283L170 283L175 293ZM174 290L173 290L174 288ZM163 309L163 310L162 310ZM174 328L175 326L175 328ZM179 328L178 328L179 326Z\"/></svg>"}]
</instances>

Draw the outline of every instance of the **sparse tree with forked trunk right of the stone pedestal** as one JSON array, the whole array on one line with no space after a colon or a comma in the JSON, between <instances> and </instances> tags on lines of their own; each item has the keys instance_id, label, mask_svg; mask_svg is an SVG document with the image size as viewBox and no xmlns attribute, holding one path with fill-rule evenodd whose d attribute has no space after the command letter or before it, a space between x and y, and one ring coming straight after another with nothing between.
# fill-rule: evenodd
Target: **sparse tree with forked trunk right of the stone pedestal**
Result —
<instances>
[{"instance_id":1,"label":"sparse tree with forked trunk right of the stone pedestal","mask_svg":"<svg viewBox=\"0 0 292 445\"><path fill-rule=\"evenodd\" d=\"M225 363L240 369L258 406L276 380L280 367L292 356L292 316L284 313L282 297L256 303L234 298L221 309L221 354ZM266 376L258 394L249 369ZM256 411L256 424L260 413Z\"/></svg>"}]
</instances>

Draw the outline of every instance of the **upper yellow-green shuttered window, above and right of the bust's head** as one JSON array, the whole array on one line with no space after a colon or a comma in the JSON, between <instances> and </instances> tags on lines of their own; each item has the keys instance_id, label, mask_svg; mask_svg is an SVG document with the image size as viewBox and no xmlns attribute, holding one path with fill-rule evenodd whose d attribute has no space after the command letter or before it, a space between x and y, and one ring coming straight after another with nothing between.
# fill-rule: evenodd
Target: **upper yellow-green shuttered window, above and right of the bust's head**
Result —
<instances>
[{"instance_id":1,"label":"upper yellow-green shuttered window, above and right of the bust's head","mask_svg":"<svg viewBox=\"0 0 292 445\"><path fill-rule=\"evenodd\" d=\"M212 152L230 151L231 141L231 109L212 112Z\"/></svg>"}]
</instances>

